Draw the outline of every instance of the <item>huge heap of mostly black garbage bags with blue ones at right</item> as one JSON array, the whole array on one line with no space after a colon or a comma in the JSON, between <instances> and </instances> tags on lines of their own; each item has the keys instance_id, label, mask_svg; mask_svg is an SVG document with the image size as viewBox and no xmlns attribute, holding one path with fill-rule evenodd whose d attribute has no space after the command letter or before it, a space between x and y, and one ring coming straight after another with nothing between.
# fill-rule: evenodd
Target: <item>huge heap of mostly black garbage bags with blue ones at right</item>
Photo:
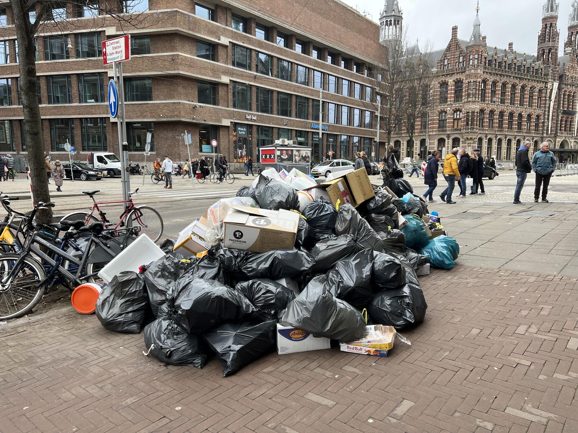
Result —
<instances>
[{"instance_id":1,"label":"huge heap of mostly black garbage bags with blue ones at right","mask_svg":"<svg viewBox=\"0 0 578 433\"><path fill-rule=\"evenodd\" d=\"M293 249L224 248L231 206L298 211L291 184L261 175L209 208L205 255L171 251L143 263L140 275L117 275L98 298L97 317L112 331L143 330L144 353L162 363L202 368L215 356L224 376L271 352L278 324L338 342L361 338L367 323L416 326L427 310L416 271L451 267L459 247L446 236L430 241L419 199L402 201L381 189L357 208L315 199L302 209Z\"/></svg>"}]
</instances>

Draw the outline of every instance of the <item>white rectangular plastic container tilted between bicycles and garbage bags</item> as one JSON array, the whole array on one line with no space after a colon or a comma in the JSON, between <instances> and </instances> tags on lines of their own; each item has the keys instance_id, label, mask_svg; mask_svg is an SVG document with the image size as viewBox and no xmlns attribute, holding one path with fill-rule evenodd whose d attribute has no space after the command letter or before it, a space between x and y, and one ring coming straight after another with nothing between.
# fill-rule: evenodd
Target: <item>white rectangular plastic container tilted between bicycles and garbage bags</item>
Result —
<instances>
[{"instance_id":1,"label":"white rectangular plastic container tilted between bicycles and garbage bags","mask_svg":"<svg viewBox=\"0 0 578 433\"><path fill-rule=\"evenodd\" d=\"M101 269L98 276L109 283L114 275L123 271L133 271L138 273L139 267L143 264L149 264L155 260L164 257L165 253L158 248L146 234L141 234L136 241L128 245L118 256Z\"/></svg>"}]
</instances>

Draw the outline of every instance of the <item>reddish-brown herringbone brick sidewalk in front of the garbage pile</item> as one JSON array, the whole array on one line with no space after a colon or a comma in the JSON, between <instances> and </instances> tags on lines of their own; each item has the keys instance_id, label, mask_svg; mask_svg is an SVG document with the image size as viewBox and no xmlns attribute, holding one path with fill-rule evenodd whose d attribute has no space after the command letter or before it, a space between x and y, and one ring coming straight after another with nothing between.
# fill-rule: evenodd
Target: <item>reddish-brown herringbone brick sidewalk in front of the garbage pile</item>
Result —
<instances>
[{"instance_id":1,"label":"reddish-brown herringbone brick sidewalk in front of the garbage pile","mask_svg":"<svg viewBox=\"0 0 578 433\"><path fill-rule=\"evenodd\" d=\"M576 432L578 283L457 266L387 358L270 354L223 378L60 311L0 333L0 431Z\"/></svg>"}]
</instances>

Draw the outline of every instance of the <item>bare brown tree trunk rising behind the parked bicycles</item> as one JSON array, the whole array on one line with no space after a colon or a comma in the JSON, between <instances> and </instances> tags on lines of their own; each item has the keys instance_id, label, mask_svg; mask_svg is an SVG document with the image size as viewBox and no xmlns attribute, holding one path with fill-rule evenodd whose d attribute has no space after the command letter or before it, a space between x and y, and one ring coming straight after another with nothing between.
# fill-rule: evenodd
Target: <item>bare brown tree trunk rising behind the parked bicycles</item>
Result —
<instances>
[{"instance_id":1,"label":"bare brown tree trunk rising behind the parked bicycles","mask_svg":"<svg viewBox=\"0 0 578 433\"><path fill-rule=\"evenodd\" d=\"M24 134L28 148L28 165L32 178L32 197L34 197L35 203L40 201L47 203L50 201L50 192L46 179L45 144L38 104L34 37L24 0L10 0L10 5L12 5L18 40L19 85L24 111ZM40 210L36 214L36 221L38 223L52 222L51 210Z\"/></svg>"}]
</instances>

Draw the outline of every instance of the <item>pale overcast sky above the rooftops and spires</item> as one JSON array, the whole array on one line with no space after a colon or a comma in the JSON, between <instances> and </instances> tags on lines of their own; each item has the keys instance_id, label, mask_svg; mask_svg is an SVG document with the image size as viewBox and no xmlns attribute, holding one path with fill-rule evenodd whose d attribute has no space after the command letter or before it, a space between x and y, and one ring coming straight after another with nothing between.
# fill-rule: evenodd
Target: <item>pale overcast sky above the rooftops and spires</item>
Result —
<instances>
[{"instance_id":1,"label":"pale overcast sky above the rooftops and spires","mask_svg":"<svg viewBox=\"0 0 578 433\"><path fill-rule=\"evenodd\" d=\"M369 12L379 23L384 0L342 0L347 5ZM545 0L480 0L481 34L488 37L488 47L507 48L514 43L518 53L536 53L538 32ZM476 18L475 0L398 0L403 12L403 26L410 43L419 39L420 47L430 40L434 49L445 48L451 27L458 26L458 38L469 39ZM568 35L568 15L572 0L560 0L558 30L563 50Z\"/></svg>"}]
</instances>

